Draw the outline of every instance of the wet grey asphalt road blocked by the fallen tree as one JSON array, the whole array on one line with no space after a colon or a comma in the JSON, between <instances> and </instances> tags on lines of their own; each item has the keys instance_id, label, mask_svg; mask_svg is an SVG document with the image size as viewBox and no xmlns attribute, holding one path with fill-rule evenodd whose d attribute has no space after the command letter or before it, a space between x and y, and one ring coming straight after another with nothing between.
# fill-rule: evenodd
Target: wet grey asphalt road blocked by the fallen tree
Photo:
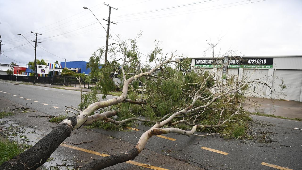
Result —
<instances>
[{"instance_id":1,"label":"wet grey asphalt road blocked by the fallen tree","mask_svg":"<svg viewBox=\"0 0 302 170\"><path fill-rule=\"evenodd\" d=\"M80 101L77 91L32 85L0 82L0 91L2 91L0 92L1 108L19 103L38 111L37 113L16 114L4 120L24 124L24 127L36 129L41 134L50 132L49 126L52 124L48 122L48 119L35 117L36 115L64 114L64 106L77 106ZM108 98L114 98L114 96L108 96ZM39 103L34 101L39 101ZM221 136L187 137L173 133L163 135L169 139L154 136L146 144L143 152L133 160L140 164L121 163L105 169L156 169L147 168L143 164L153 165L157 169L170 170L202 169L202 166L209 170L273 170L277 169L277 166L285 167L283 169L302 169L302 122L262 116L253 116L253 119L248 132L254 136L252 139L224 139ZM70 164L83 165L85 162L97 159L99 155L96 152L111 155L132 149L141 134L149 128L139 126L137 130L125 132L76 129L64 142L92 142L81 145L66 143L60 146L52 157L57 158L57 162L68 160ZM277 166L269 167L273 165Z\"/></svg>"}]
</instances>

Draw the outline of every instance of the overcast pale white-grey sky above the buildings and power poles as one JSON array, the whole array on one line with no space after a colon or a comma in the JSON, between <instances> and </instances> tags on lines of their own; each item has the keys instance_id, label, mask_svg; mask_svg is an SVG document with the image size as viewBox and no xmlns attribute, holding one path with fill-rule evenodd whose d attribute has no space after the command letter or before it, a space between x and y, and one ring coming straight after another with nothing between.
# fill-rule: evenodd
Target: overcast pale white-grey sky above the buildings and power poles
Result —
<instances>
[{"instance_id":1,"label":"overcast pale white-grey sky above the buildings and power poles","mask_svg":"<svg viewBox=\"0 0 302 170\"><path fill-rule=\"evenodd\" d=\"M142 60L146 59L143 54L154 49L155 40L168 55L176 51L188 57L210 57L208 43L219 40L215 55L230 50L238 56L302 55L301 0L104 3L117 8L111 8L111 21L117 25L110 25L109 44L119 38L134 39L141 32L137 45ZM34 60L34 47L25 39L35 39L31 31L42 34L37 37L41 42L37 43L37 59L88 61L98 47L106 45L107 22L103 19L108 20L108 13L109 7L96 0L0 0L0 35L5 44L0 63L26 65Z\"/></svg>"}]
</instances>

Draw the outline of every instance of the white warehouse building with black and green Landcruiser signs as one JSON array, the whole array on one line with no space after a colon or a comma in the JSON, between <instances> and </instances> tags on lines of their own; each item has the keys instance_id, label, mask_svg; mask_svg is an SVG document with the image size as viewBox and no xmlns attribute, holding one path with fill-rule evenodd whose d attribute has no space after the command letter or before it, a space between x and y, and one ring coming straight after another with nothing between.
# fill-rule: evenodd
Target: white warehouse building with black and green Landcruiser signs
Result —
<instances>
[{"instance_id":1,"label":"white warehouse building with black and green Landcruiser signs","mask_svg":"<svg viewBox=\"0 0 302 170\"><path fill-rule=\"evenodd\" d=\"M214 60L220 61L214 61ZM239 62L240 64L239 64ZM213 62L214 61L214 62ZM221 58L192 58L191 65L209 71L216 68L217 76L215 79L222 79ZM214 64L215 63L215 64ZM244 56L228 57L227 77L232 75L239 76L239 80L248 77L249 80L262 78L263 83L273 87L272 93L266 86L256 87L255 97L264 96L266 98L295 100L302 102L302 55L299 56ZM220 65L219 65L220 64ZM220 66L220 67L219 67ZM218 68L217 68L218 67ZM280 84L284 80L286 90L281 92ZM272 95L271 95L272 94Z\"/></svg>"}]
</instances>

